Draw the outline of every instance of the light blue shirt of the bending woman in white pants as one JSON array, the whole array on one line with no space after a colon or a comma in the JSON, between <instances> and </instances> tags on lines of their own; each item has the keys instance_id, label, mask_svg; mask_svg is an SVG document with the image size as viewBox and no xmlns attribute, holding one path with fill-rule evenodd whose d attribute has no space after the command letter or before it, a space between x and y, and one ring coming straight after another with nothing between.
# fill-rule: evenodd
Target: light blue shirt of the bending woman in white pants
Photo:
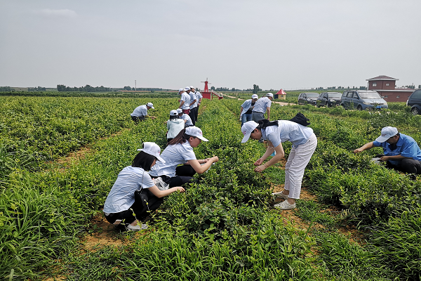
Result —
<instances>
[{"instance_id":1,"label":"light blue shirt of the bending woman in white pants","mask_svg":"<svg viewBox=\"0 0 421 281\"><path fill-rule=\"evenodd\" d=\"M289 120L278 120L279 126L268 126L262 129L262 138L268 140L276 148L281 143L290 141L293 147L307 142L313 135L313 129Z\"/></svg>"}]
</instances>

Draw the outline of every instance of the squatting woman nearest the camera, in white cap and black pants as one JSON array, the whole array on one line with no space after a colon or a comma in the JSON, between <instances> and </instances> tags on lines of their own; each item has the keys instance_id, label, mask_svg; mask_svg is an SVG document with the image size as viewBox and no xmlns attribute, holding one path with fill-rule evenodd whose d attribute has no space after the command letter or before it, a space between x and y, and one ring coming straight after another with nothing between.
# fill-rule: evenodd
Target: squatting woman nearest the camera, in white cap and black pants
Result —
<instances>
[{"instance_id":1,"label":"squatting woman nearest the camera, in white cap and black pants","mask_svg":"<svg viewBox=\"0 0 421 281\"><path fill-rule=\"evenodd\" d=\"M163 202L162 197L177 190L185 191L181 186L159 190L152 181L147 171L154 166L156 160L165 163L159 156L160 153L161 149L156 143L143 143L143 148L133 159L131 166L126 166L119 173L104 204L103 211L109 223L121 226L121 229L126 227L127 230L146 229L147 225L139 226L138 223L145 220L149 211L158 209ZM141 188L149 198L149 208L146 210L144 210L142 202L135 200L135 191Z\"/></svg>"}]
</instances>

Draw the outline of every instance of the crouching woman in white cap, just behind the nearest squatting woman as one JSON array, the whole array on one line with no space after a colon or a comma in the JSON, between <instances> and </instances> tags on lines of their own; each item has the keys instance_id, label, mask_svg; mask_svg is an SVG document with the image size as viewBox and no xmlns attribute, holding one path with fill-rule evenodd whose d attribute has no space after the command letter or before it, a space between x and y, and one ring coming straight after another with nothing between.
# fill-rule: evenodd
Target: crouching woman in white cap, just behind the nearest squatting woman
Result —
<instances>
[{"instance_id":1,"label":"crouching woman in white cap, just behind the nearest squatting woman","mask_svg":"<svg viewBox=\"0 0 421 281\"><path fill-rule=\"evenodd\" d=\"M208 159L196 159L193 148L196 148L201 141L208 141L203 138L201 129L196 126L189 126L182 129L178 135L168 143L163 150L161 157L165 162L159 162L152 167L152 177L161 177L170 188L178 185L185 185L194 174L203 174L210 168L213 162L218 162L218 156ZM184 164L182 166L178 166Z\"/></svg>"}]
</instances>

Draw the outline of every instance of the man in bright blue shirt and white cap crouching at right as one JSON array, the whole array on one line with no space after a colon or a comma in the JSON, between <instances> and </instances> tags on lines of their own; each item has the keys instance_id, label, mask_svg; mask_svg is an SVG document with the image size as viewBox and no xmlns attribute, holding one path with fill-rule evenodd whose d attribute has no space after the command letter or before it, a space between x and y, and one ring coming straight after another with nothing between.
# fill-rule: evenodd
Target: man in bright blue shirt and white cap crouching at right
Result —
<instances>
[{"instance_id":1,"label":"man in bright blue shirt and white cap crouching at right","mask_svg":"<svg viewBox=\"0 0 421 281\"><path fill-rule=\"evenodd\" d=\"M415 179L416 174L421 174L421 150L417 142L410 136L398 133L395 127L387 126L382 129L382 135L354 150L354 153L369 150L374 147L382 147L384 155L377 155L380 161L386 161L388 168L411 174Z\"/></svg>"}]
</instances>

